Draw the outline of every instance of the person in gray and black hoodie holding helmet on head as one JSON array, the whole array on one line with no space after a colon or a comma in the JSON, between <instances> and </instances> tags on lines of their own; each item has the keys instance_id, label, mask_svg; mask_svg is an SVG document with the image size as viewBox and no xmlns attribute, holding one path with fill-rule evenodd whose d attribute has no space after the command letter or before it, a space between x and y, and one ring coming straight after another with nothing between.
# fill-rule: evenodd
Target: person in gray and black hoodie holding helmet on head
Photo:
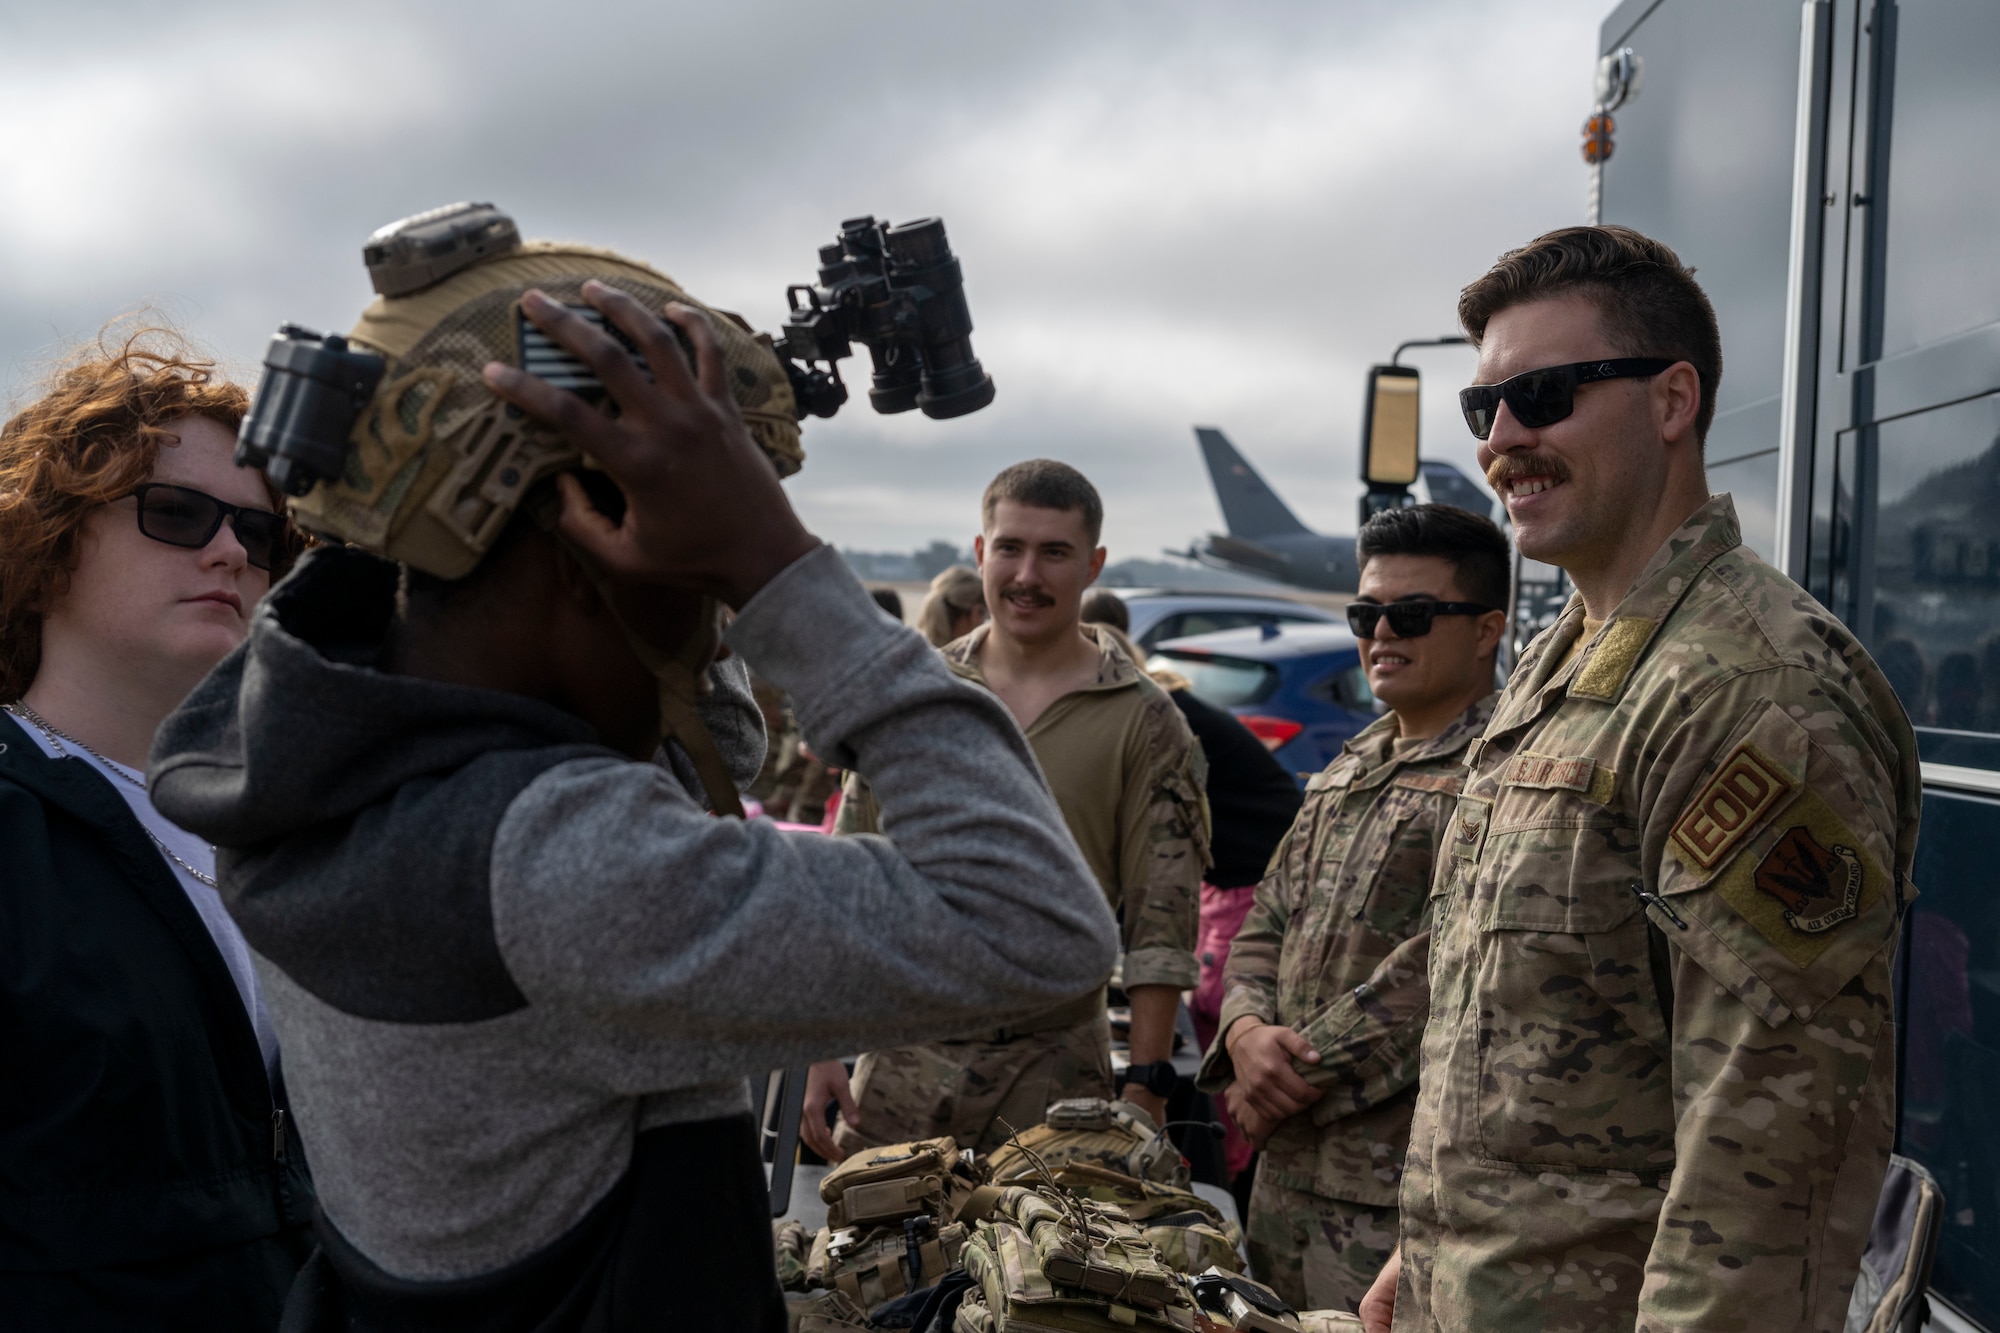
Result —
<instances>
[{"instance_id":1,"label":"person in gray and black hoodie holding helmet on head","mask_svg":"<svg viewBox=\"0 0 2000 1333\"><path fill-rule=\"evenodd\" d=\"M526 374L514 318L616 414ZM320 1197L288 1327L782 1329L746 1075L1092 991L1104 895L1006 709L792 512L768 344L526 244L374 302L350 348L380 388L294 502L348 544L272 590L150 769L218 845L286 1045ZM704 809L762 757L744 658L882 837Z\"/></svg>"}]
</instances>

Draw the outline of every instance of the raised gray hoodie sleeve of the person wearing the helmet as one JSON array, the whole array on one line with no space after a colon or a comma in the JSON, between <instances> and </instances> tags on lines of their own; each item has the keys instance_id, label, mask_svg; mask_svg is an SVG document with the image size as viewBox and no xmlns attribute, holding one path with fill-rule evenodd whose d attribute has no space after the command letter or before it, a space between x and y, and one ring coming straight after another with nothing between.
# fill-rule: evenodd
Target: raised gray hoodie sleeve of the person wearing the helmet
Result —
<instances>
[{"instance_id":1,"label":"raised gray hoodie sleeve of the person wearing the helmet","mask_svg":"<svg viewBox=\"0 0 2000 1333\"><path fill-rule=\"evenodd\" d=\"M1104 893L1006 709L890 622L822 546L730 626L886 837L700 811L654 765L578 759L508 807L494 933L534 1005L652 1059L636 1085L946 1037L1104 983Z\"/></svg>"}]
</instances>

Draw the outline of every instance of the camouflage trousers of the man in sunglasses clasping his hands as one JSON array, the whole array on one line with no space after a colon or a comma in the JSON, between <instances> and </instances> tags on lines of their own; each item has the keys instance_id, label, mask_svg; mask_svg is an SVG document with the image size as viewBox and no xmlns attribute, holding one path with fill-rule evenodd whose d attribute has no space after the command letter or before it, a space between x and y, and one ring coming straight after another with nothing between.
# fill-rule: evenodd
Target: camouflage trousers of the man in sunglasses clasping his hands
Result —
<instances>
[{"instance_id":1,"label":"camouflage trousers of the man in sunglasses clasping his hands","mask_svg":"<svg viewBox=\"0 0 2000 1333\"><path fill-rule=\"evenodd\" d=\"M1244 1249L1250 1275L1294 1309L1354 1309L1396 1249L1396 1205L1286 1189L1260 1165Z\"/></svg>"}]
</instances>

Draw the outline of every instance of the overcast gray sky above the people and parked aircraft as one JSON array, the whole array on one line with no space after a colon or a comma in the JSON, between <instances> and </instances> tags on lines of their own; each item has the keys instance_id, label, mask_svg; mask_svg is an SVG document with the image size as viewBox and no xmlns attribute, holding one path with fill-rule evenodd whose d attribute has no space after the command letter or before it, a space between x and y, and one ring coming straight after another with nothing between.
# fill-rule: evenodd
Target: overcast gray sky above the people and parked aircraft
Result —
<instances>
[{"instance_id":1,"label":"overcast gray sky above the people and parked aircraft","mask_svg":"<svg viewBox=\"0 0 2000 1333\"><path fill-rule=\"evenodd\" d=\"M840 218L938 214L998 400L808 422L822 536L970 540L1046 454L1112 556L1218 530L1218 424L1322 530L1354 524L1360 390L1454 332L1492 258L1582 220L1610 0L6 6L0 376L16 400L152 302L254 374L346 328L362 238L490 198L776 328ZM1418 352L1424 452L1470 466L1466 350ZM866 372L848 374L850 382Z\"/></svg>"}]
</instances>

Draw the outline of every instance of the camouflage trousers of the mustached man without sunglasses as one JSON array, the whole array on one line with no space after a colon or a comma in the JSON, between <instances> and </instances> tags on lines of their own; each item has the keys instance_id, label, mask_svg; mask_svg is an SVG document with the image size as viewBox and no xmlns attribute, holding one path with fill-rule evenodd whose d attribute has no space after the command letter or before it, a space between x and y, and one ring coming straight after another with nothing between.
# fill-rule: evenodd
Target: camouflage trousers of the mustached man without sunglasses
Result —
<instances>
[{"instance_id":1,"label":"camouflage trousers of the mustached man without sunglasses","mask_svg":"<svg viewBox=\"0 0 2000 1333\"><path fill-rule=\"evenodd\" d=\"M1112 1031L1100 1011L1076 1027L1012 1041L932 1041L870 1051L854 1067L860 1127L840 1121L834 1143L860 1147L952 1135L990 1153L1006 1143L1006 1121L1028 1129L1064 1097L1112 1095Z\"/></svg>"}]
</instances>

